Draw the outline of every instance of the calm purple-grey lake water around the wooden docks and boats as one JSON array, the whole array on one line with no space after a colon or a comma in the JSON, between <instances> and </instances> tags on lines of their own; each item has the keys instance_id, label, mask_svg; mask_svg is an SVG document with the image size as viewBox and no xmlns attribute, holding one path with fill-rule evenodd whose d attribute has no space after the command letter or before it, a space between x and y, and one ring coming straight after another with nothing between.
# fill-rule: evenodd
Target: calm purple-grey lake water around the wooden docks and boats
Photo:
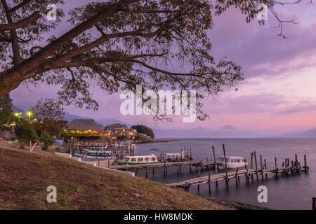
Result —
<instances>
[{"instance_id":1,"label":"calm purple-grey lake water around the wooden docks and boats","mask_svg":"<svg viewBox=\"0 0 316 224\"><path fill-rule=\"evenodd\" d=\"M223 155L222 144L225 144L227 155L240 155L250 161L251 152L256 151L257 160L259 155L267 160L267 167L274 167L274 158L277 157L278 167L282 167L285 158L294 160L294 155L298 155L298 161L303 165L303 155L308 156L308 174L294 174L294 176L279 175L275 178L274 174L268 174L268 179L259 182L246 183L245 178L241 177L238 188L235 186L235 179L230 179L230 188L226 188L225 181L219 181L218 188L215 183L211 185L211 195L209 186L201 185L199 192L197 186L190 188L190 193L204 197L216 197L223 200L235 200L254 204L270 209L311 209L312 197L316 197L316 139L182 139L169 143L140 144L136 146L136 155L148 155L149 153L180 152L181 148L191 148L192 157L195 161L211 158L211 146L215 146L216 156ZM159 151L150 151L157 148ZM249 163L250 165L250 163ZM260 167L260 163L258 163ZM148 178L162 183L172 183L185 179L192 179L198 176L198 170L192 168L190 173L189 166L181 167L181 173L177 174L176 167L168 167L168 173L164 177L162 168L155 169L155 173L149 172ZM208 175L208 170L203 169L202 176ZM211 174L213 171L211 171ZM145 170L138 170L138 176L145 176ZM258 203L258 186L267 186L268 203Z\"/></svg>"}]
</instances>

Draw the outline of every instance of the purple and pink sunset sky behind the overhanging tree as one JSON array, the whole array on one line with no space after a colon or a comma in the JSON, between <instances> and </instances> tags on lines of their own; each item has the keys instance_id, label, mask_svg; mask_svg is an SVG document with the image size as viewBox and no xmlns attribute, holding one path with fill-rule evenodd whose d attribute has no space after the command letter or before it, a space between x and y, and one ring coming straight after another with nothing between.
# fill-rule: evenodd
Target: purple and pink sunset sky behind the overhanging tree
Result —
<instances>
[{"instance_id":1,"label":"purple and pink sunset sky behind the overhanging tree","mask_svg":"<svg viewBox=\"0 0 316 224\"><path fill-rule=\"evenodd\" d=\"M70 8L62 7L66 12ZM232 125L240 130L273 134L313 129L316 127L316 8L300 4L277 8L277 12L284 19L294 15L299 19L297 25L284 24L285 39L277 36L277 21L270 13L265 26L259 26L257 20L247 24L245 16L233 8L214 18L214 27L209 31L211 55L217 60L228 57L241 65L245 79L237 92L228 90L216 101L206 100L204 111L210 114L209 120L183 123L182 117L177 117L173 123L154 124L150 116L122 116L119 94L108 95L97 88L92 91L100 104L99 111L72 106L66 111L97 120L116 118L161 129L217 129ZM41 97L55 97L57 91L56 87L43 84L38 87L22 84L11 92L11 97L15 106L27 109Z\"/></svg>"}]
</instances>

